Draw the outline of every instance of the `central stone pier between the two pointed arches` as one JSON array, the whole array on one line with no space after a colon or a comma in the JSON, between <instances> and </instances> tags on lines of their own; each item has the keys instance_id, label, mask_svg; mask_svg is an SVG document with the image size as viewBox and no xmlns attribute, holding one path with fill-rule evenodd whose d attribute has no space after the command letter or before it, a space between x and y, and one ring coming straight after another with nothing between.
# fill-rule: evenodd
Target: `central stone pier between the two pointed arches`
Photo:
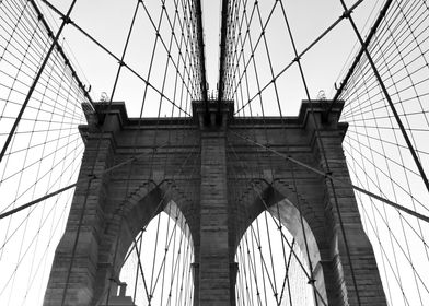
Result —
<instances>
[{"instance_id":1,"label":"central stone pier between the two pointed arches","mask_svg":"<svg viewBox=\"0 0 429 306\"><path fill-rule=\"evenodd\" d=\"M225 136L201 132L200 306L230 305Z\"/></svg>"}]
</instances>

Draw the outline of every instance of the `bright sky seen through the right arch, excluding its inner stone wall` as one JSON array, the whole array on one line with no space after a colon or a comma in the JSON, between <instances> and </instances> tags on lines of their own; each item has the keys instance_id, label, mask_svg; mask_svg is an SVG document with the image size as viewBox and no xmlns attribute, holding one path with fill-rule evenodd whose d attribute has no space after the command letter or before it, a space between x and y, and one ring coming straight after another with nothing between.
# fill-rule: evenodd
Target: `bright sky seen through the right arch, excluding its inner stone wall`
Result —
<instances>
[{"instance_id":1,"label":"bright sky seen through the right arch, excluding its inner stone wall","mask_svg":"<svg viewBox=\"0 0 429 306\"><path fill-rule=\"evenodd\" d=\"M315 305L309 264L295 238L264 211L236 250L236 305Z\"/></svg>"}]
</instances>

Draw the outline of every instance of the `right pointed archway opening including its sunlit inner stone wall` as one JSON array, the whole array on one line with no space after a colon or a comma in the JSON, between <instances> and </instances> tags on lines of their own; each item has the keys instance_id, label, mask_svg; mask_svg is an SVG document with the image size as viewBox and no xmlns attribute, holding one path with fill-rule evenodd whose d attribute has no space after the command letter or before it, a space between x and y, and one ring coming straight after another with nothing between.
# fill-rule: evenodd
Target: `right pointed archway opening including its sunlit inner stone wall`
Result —
<instances>
[{"instance_id":1,"label":"right pointed archway opening including its sunlit inner stone wall","mask_svg":"<svg viewBox=\"0 0 429 306\"><path fill-rule=\"evenodd\" d=\"M265 208L254 207L236 248L236 305L327 305L321 252L309 223L285 197Z\"/></svg>"}]
</instances>

